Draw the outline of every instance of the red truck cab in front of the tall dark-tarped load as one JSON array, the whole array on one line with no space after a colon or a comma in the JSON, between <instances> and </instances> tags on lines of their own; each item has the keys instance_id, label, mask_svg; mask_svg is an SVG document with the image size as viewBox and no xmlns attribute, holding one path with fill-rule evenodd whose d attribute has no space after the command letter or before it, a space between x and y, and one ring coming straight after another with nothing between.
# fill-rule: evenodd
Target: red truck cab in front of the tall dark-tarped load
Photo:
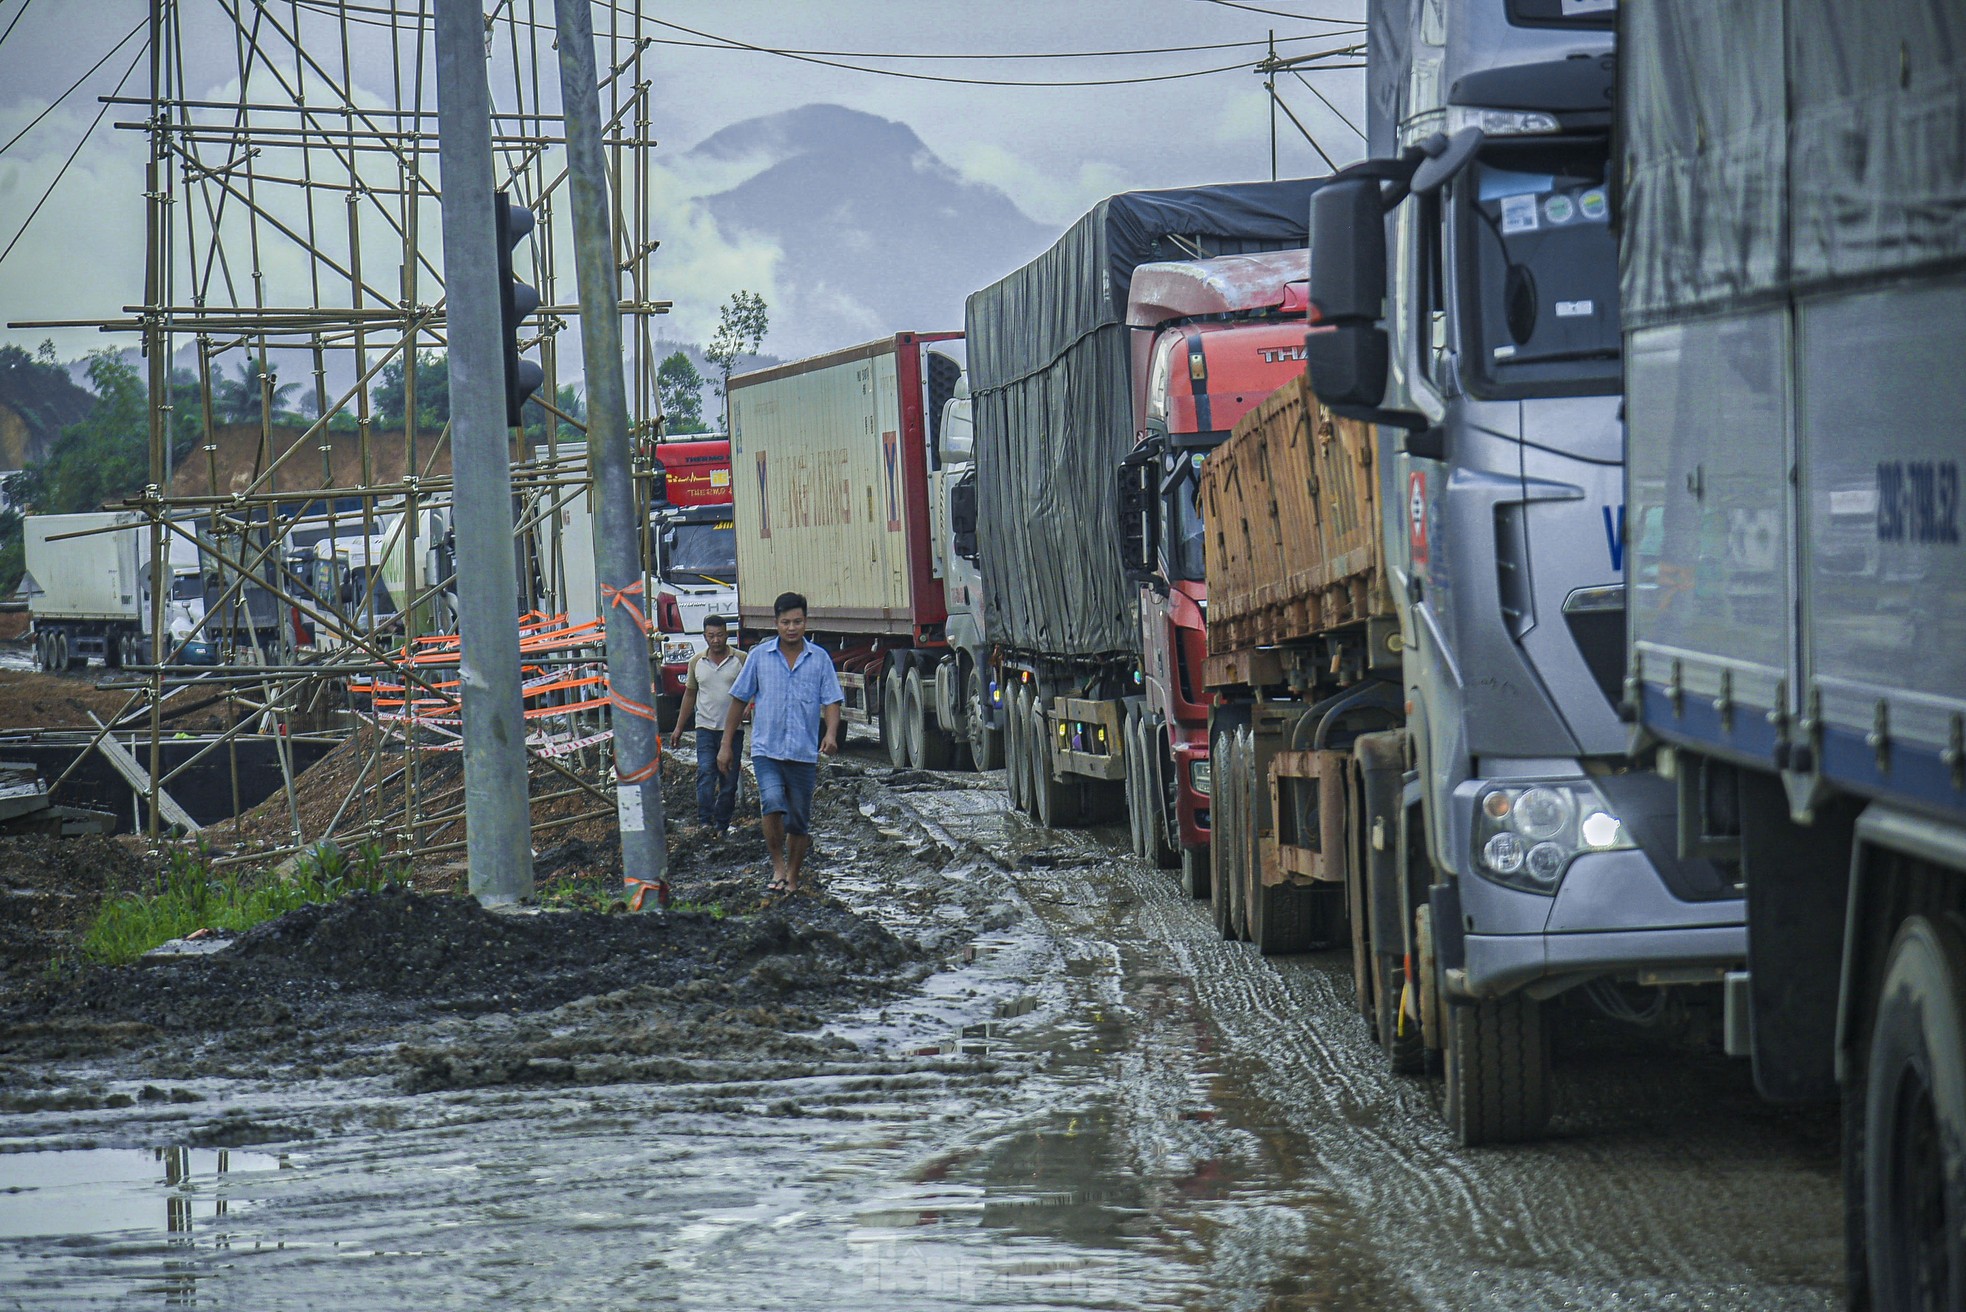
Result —
<instances>
[{"instance_id":1,"label":"red truck cab in front of the tall dark-tarped load","mask_svg":"<svg viewBox=\"0 0 1966 1312\"><path fill-rule=\"evenodd\" d=\"M1189 854L1209 842L1209 712L1201 460L1237 421L1303 372L1309 252L1142 264L1132 275L1136 454L1160 486L1158 568L1140 588L1148 793L1172 814L1146 828ZM1168 846L1158 846L1170 858ZM1205 860L1199 865L1207 869Z\"/></svg>"}]
</instances>

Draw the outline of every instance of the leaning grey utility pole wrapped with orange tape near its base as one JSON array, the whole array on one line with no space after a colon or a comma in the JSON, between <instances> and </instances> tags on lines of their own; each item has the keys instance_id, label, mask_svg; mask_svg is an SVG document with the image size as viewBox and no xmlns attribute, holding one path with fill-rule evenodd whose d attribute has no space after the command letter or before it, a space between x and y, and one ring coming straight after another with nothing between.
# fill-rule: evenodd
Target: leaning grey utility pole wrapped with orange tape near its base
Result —
<instances>
[{"instance_id":1,"label":"leaning grey utility pole wrapped with orange tape near its base","mask_svg":"<svg viewBox=\"0 0 1966 1312\"><path fill-rule=\"evenodd\" d=\"M633 445L621 380L619 264L607 161L602 155L600 83L594 69L590 0L556 0L560 28L560 108L566 114L566 181L574 210L574 273L580 283L580 354L588 376L588 468L594 472L594 576L607 622L607 696L613 702L615 814L621 820L621 879L666 905L668 844L663 834L663 781L655 688L649 677L641 541L635 519Z\"/></svg>"}]
</instances>

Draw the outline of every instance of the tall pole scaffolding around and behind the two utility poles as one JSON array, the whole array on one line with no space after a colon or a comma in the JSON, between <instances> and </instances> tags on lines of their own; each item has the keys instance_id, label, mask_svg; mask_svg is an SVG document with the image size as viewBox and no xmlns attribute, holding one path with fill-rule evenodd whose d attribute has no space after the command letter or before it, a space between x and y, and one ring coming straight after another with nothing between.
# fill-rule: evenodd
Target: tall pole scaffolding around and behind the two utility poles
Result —
<instances>
[{"instance_id":1,"label":"tall pole scaffolding around and behind the two utility poles","mask_svg":"<svg viewBox=\"0 0 1966 1312\"><path fill-rule=\"evenodd\" d=\"M332 734L364 759L338 775L346 795L326 820L303 814L291 753L277 751L291 828L281 850L324 838L376 842L399 858L462 850L462 785L433 767L454 749L458 716L446 686L456 681L448 423L417 395L417 362L446 348L433 4L151 0L147 35L149 94L112 100L142 110L116 126L142 132L149 148L144 299L124 319L90 323L142 336L149 488L128 507L147 525L149 631L165 651L120 653L144 659L122 661L114 686L132 700L98 738L140 726L151 836L169 824L169 783L191 761L216 751L236 759L246 736L279 745ZM653 319L668 309L653 297L651 271L651 41L633 6L604 6L596 35L647 523L661 427ZM560 391L570 382L560 334L580 311L562 293L562 283L572 291L570 266L564 277L560 268L572 234L560 216L568 167L552 41L552 0L490 4L493 161L499 187L537 216L515 271L541 293L523 340L547 374L527 411L535 423L513 433L517 586L521 610L533 612L527 716L543 726L529 734L535 832L615 808L600 769L606 698L592 694L606 673L600 631L556 620L570 604L562 509L588 498L592 476L576 437L584 425ZM293 376L311 384L313 413L297 425L281 415L279 378ZM216 397L238 401L242 384L258 386L258 415L238 423L234 405L226 423ZM187 423L191 403L199 413ZM171 539L195 543L216 584L206 584L195 631L167 639ZM362 543L366 586L350 588L332 568L344 541ZM322 559L330 568L311 565ZM387 578L387 604L376 578ZM303 631L311 645L295 645ZM216 643L220 667L175 663L191 641ZM173 718L214 704L230 712L230 728L165 769ZM590 806L568 810L568 799ZM556 806L541 820L545 803Z\"/></svg>"}]
</instances>

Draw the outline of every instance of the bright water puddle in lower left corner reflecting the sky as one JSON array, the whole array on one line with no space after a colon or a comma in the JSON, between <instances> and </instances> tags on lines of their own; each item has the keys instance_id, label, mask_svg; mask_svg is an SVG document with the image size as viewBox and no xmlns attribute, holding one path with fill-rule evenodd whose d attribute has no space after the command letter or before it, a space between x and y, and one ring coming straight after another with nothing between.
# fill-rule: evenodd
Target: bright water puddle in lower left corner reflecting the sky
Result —
<instances>
[{"instance_id":1,"label":"bright water puddle in lower left corner reflecting the sky","mask_svg":"<svg viewBox=\"0 0 1966 1312\"><path fill-rule=\"evenodd\" d=\"M285 1157L236 1149L0 1153L0 1241L191 1235L250 1206L240 1176L289 1168Z\"/></svg>"}]
</instances>

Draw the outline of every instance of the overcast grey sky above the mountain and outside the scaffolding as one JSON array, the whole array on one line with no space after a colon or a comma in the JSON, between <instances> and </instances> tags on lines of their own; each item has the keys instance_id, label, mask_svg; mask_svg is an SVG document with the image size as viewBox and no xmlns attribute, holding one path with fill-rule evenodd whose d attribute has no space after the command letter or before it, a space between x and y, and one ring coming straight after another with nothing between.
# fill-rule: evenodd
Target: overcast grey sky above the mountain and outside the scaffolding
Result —
<instances>
[{"instance_id":1,"label":"overcast grey sky above the mountain and outside the scaffolding","mask_svg":"<svg viewBox=\"0 0 1966 1312\"><path fill-rule=\"evenodd\" d=\"M364 0L368 6L383 2ZM291 14L293 4L265 0L265 10ZM309 22L317 22L322 0L299 4L311 14ZM197 49L208 41L224 55L232 31L224 14L232 6L252 12L246 0L181 0L187 45ZM550 22L549 0L515 0L515 6L521 16L537 14ZM661 193L657 236L665 238L657 269L666 279L657 293L676 301L668 330L692 340L708 336L716 321L716 289L749 281L769 293L769 252L716 250L716 232L700 220L692 222L686 212L684 193L702 195L704 187L716 185L714 179L668 171L680 151L718 128L759 114L832 102L906 122L965 177L1001 187L1026 214L1056 228L1115 191L1270 173L1270 104L1262 79L1246 67L1260 57L1260 45L1042 61L902 61L867 59L863 53L1115 51L1264 41L1272 30L1280 53L1309 53L1359 39L1355 30L1309 18L1355 24L1362 8L1364 0L1250 0L1248 6L1223 0L649 4L647 18L706 33L698 37L651 24L645 30L649 35L847 51L838 63L938 77L1115 79L1235 65L1207 77L1121 87L973 87L883 77L773 53L655 45L651 132L661 140L655 155ZM136 69L124 94L147 92L147 63L140 59L144 33L138 31L110 55L39 124L29 128L29 122L136 30L145 12L145 0L0 0L0 31L8 33L0 39L0 250L16 242L28 210L61 173L41 212L12 254L0 260L0 323L112 317L144 299L144 142L138 132L112 130L118 120L142 118L140 106L110 106L63 173L88 124L104 110L98 96L112 92L132 59ZM606 24L606 8L598 6L596 28ZM210 75L201 75L193 61L193 94L236 98L236 63L226 67L226 61L230 55L214 59ZM358 81L368 67L358 57ZM1362 126L1362 71L1319 73L1311 85L1345 118ZM1301 81L1284 75L1280 90L1339 163L1362 153L1353 130ZM1282 175L1329 171L1288 118L1278 116L1278 124ZM0 334L29 346L53 336L65 358L108 340L81 328L0 328Z\"/></svg>"}]
</instances>

